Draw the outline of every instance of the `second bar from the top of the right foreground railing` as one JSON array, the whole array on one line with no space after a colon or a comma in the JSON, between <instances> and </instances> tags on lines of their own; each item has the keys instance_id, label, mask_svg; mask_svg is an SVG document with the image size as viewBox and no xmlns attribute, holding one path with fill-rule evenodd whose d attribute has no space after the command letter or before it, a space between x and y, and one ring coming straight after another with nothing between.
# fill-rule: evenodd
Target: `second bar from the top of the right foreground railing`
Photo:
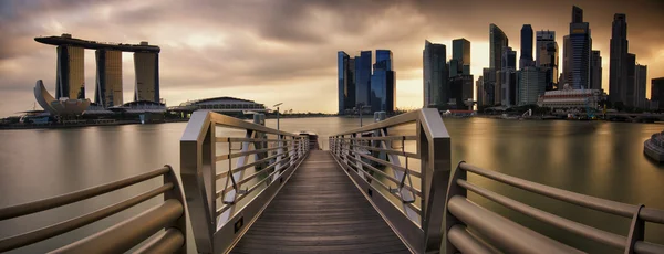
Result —
<instances>
[{"instance_id":1,"label":"second bar from the top of the right foreground railing","mask_svg":"<svg viewBox=\"0 0 664 254\"><path fill-rule=\"evenodd\" d=\"M567 220L561 216L557 216L554 214L544 212L542 210L529 207L516 200L509 199L507 197L500 195L496 192L489 191L481 187L469 183L463 179L458 179L457 184L466 190L473 191L481 197L485 197L496 203L502 204L509 209L512 209L517 212L523 213L533 219L540 220L542 222L549 223L553 226L558 226L560 229L567 230L569 232L575 233L578 235L584 236L587 239L596 241L599 243L603 243L606 245L611 245L616 248L624 248L627 244L627 239L622 235L613 234L610 232L605 232L602 230L598 230L595 227L581 224L574 221Z\"/></svg>"}]
</instances>

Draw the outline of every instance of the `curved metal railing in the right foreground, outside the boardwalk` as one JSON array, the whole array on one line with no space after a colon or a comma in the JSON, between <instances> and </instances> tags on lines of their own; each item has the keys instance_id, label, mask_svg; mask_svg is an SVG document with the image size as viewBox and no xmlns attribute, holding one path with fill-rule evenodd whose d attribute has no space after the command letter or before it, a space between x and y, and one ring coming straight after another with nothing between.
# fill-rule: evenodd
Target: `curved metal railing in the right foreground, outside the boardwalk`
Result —
<instances>
[{"instance_id":1,"label":"curved metal railing in the right foreground, outside the boardwalk","mask_svg":"<svg viewBox=\"0 0 664 254\"><path fill-rule=\"evenodd\" d=\"M632 222L629 235L619 235L574 222L484 189L467 181L468 172L582 208L630 218ZM645 222L664 224L663 210L566 191L481 169L464 161L452 173L447 190L447 209L445 211L446 253L492 253L495 248L504 250L507 253L581 252L469 202L466 199L468 191L581 237L624 250L624 253L664 253L664 245L644 241ZM470 234L467 227L479 232L485 237L479 240Z\"/></svg>"}]
</instances>

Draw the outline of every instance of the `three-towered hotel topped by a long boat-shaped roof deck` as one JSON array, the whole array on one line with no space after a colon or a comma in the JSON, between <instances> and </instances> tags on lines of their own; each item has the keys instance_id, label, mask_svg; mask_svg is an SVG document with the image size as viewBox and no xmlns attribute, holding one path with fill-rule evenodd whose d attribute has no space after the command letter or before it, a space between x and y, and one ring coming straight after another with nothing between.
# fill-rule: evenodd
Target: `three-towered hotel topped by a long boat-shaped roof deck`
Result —
<instances>
[{"instance_id":1,"label":"three-towered hotel topped by a long boat-shaped roof deck","mask_svg":"<svg viewBox=\"0 0 664 254\"><path fill-rule=\"evenodd\" d=\"M55 99L84 99L84 50L95 50L96 81L94 102L103 107L123 104L122 52L134 52L136 83L134 100L159 103L159 46L141 44L106 43L61 36L35 38L34 41L58 46L58 71Z\"/></svg>"}]
</instances>

